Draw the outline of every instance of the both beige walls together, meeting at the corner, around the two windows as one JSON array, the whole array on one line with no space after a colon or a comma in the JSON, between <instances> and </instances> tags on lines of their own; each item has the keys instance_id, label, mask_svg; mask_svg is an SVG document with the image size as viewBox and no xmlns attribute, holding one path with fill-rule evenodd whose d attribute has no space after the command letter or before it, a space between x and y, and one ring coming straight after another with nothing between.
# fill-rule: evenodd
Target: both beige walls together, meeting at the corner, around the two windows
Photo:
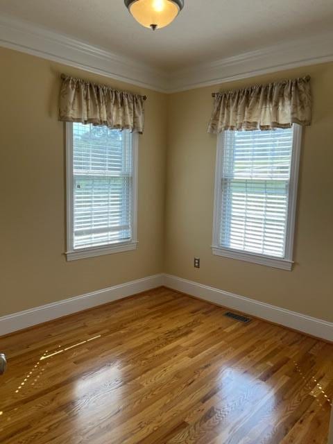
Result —
<instances>
[{"instance_id":1,"label":"both beige walls together, meeting at the corner, around the two windows","mask_svg":"<svg viewBox=\"0 0 333 444\"><path fill-rule=\"evenodd\" d=\"M210 93L219 87L166 96L1 48L0 68L0 316L166 271L333 321L333 64L221 85L312 77L314 119L303 135L292 272L212 255L216 136L206 128ZM148 96L139 141L139 246L133 252L74 262L63 254L61 72ZM199 270L194 255L201 259Z\"/></svg>"}]
</instances>

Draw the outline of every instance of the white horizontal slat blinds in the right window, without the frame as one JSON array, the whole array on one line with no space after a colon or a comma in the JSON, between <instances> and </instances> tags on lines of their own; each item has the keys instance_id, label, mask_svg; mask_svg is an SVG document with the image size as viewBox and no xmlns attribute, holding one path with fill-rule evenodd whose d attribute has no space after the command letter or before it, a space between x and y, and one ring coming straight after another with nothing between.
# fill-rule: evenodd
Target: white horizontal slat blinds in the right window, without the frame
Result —
<instances>
[{"instance_id":1,"label":"white horizontal slat blinds in the right window, without the frame","mask_svg":"<svg viewBox=\"0 0 333 444\"><path fill-rule=\"evenodd\" d=\"M293 128L221 137L219 246L285 258Z\"/></svg>"}]
</instances>

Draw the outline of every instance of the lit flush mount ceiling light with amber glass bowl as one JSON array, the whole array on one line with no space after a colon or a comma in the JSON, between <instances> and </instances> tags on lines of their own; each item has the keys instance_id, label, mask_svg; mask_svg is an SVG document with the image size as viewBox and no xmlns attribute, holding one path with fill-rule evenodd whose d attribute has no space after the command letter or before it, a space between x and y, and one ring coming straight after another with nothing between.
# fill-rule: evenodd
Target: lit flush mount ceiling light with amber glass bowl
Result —
<instances>
[{"instance_id":1,"label":"lit flush mount ceiling light with amber glass bowl","mask_svg":"<svg viewBox=\"0 0 333 444\"><path fill-rule=\"evenodd\" d=\"M184 0L125 0L125 4L139 24L155 31L176 19Z\"/></svg>"}]
</instances>

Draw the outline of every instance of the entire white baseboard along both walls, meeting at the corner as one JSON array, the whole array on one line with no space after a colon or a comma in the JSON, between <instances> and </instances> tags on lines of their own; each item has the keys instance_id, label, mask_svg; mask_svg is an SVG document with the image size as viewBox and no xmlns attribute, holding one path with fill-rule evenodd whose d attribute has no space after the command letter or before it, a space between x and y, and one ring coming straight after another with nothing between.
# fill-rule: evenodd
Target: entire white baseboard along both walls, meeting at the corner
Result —
<instances>
[{"instance_id":1,"label":"entire white baseboard along both walls, meeting at the corner","mask_svg":"<svg viewBox=\"0 0 333 444\"><path fill-rule=\"evenodd\" d=\"M165 285L191 296L333 341L333 323L177 276L159 274L0 317L0 336Z\"/></svg>"}]
</instances>

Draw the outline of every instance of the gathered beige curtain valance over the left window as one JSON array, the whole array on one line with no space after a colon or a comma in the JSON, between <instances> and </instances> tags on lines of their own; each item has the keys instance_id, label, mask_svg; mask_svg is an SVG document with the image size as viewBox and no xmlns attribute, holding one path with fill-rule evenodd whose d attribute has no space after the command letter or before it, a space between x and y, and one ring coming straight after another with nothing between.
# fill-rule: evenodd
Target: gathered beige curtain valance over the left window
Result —
<instances>
[{"instance_id":1,"label":"gathered beige curtain valance over the left window","mask_svg":"<svg viewBox=\"0 0 333 444\"><path fill-rule=\"evenodd\" d=\"M146 96L117 91L64 74L61 78L60 121L93 123L143 133Z\"/></svg>"}]
</instances>

